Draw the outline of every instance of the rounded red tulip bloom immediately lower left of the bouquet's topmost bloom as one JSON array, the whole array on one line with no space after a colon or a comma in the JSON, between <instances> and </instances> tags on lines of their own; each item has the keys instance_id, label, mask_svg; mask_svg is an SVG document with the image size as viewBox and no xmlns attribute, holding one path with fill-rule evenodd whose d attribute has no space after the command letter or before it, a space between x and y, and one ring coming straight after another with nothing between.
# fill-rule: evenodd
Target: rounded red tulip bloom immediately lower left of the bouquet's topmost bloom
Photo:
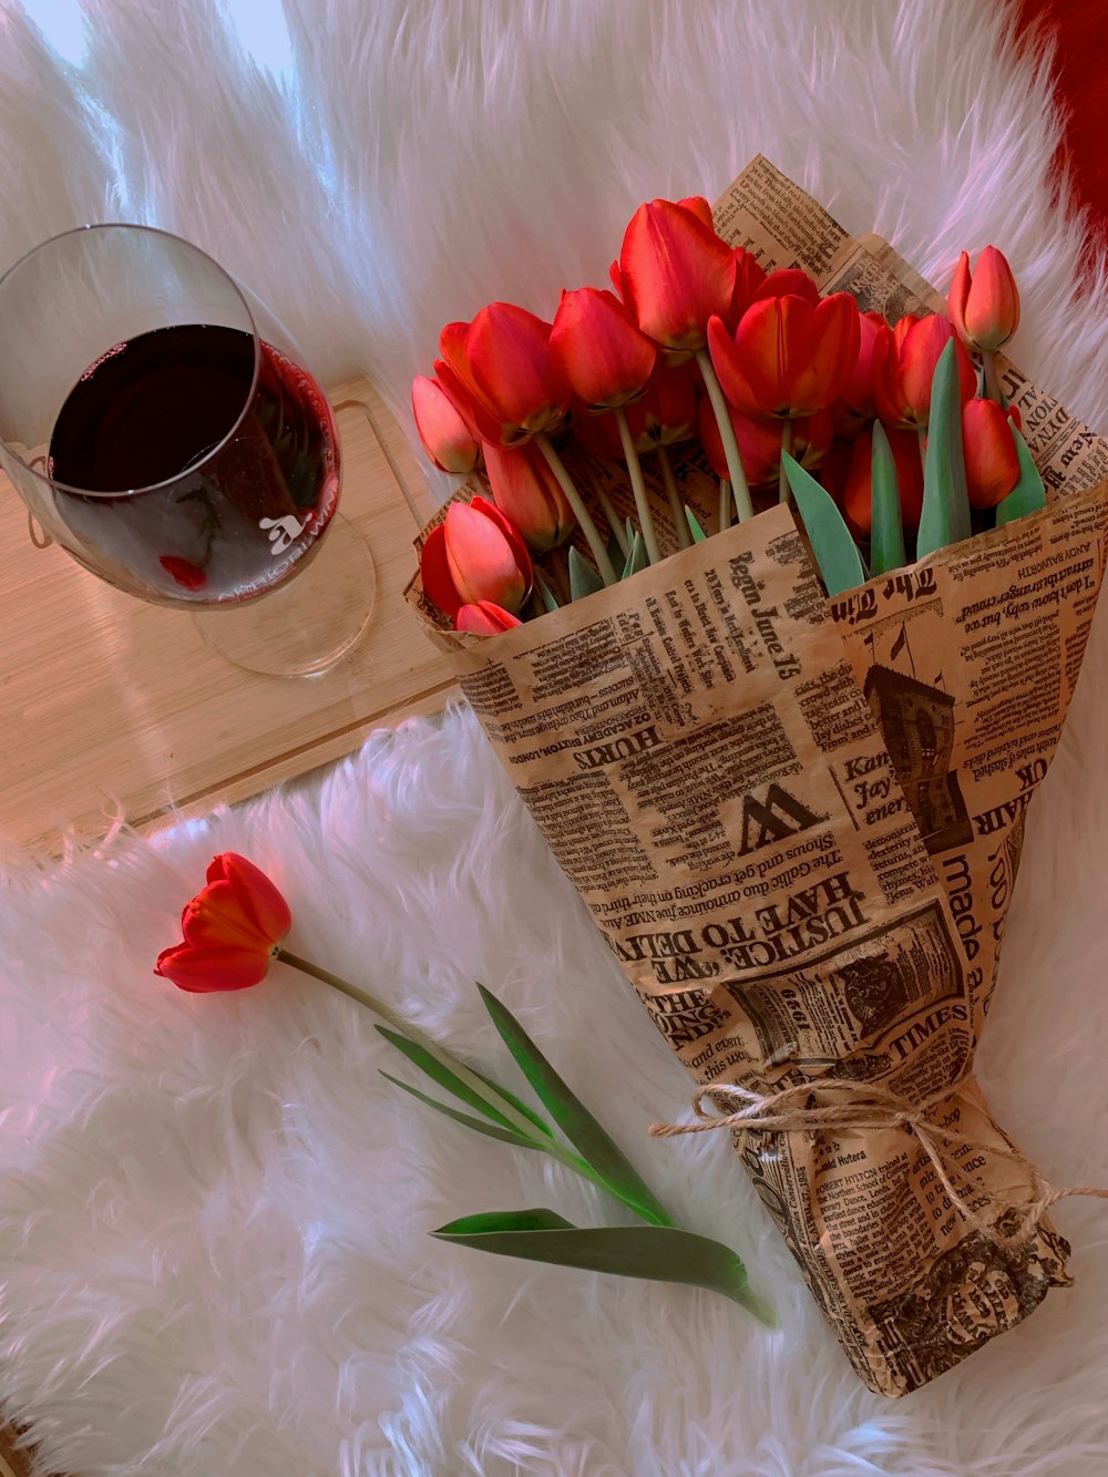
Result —
<instances>
[{"instance_id":1,"label":"rounded red tulip bloom immediately lower left of the bouquet's topmost bloom","mask_svg":"<svg viewBox=\"0 0 1108 1477\"><path fill-rule=\"evenodd\" d=\"M587 406L612 411L643 393L657 350L615 292L582 287L561 294L550 357Z\"/></svg>"}]
</instances>

